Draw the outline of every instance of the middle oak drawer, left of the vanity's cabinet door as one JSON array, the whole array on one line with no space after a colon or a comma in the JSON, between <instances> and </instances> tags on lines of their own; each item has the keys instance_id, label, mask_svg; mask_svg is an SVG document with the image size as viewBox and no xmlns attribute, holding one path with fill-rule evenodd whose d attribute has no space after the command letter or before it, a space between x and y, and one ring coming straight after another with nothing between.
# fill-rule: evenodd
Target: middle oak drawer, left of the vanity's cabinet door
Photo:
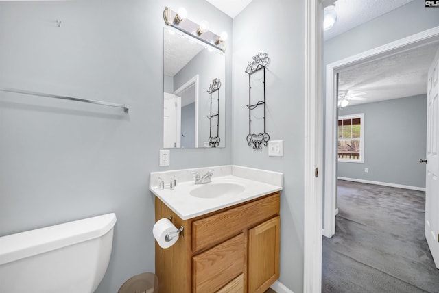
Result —
<instances>
[{"instance_id":1,"label":"middle oak drawer, left of the vanity's cabinet door","mask_svg":"<svg viewBox=\"0 0 439 293\"><path fill-rule=\"evenodd\" d=\"M215 292L244 272L244 233L192 257L192 292Z\"/></svg>"}]
</instances>

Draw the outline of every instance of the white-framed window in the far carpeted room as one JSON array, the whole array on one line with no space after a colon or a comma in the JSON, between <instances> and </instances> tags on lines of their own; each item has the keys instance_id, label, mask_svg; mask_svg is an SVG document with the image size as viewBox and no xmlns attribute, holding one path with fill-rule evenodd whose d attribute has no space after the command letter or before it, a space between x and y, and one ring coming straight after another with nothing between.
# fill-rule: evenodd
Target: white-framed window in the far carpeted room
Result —
<instances>
[{"instance_id":1,"label":"white-framed window in the far carpeted room","mask_svg":"<svg viewBox=\"0 0 439 293\"><path fill-rule=\"evenodd\" d=\"M364 163L364 113L338 117L338 162Z\"/></svg>"}]
</instances>

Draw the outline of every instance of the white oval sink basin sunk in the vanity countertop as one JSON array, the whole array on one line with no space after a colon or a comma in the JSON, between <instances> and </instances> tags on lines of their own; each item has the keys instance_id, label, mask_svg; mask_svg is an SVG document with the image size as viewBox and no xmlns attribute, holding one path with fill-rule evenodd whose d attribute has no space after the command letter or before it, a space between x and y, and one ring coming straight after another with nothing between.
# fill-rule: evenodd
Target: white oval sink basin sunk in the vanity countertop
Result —
<instances>
[{"instance_id":1,"label":"white oval sink basin sunk in the vanity countertop","mask_svg":"<svg viewBox=\"0 0 439 293\"><path fill-rule=\"evenodd\" d=\"M219 196L234 196L244 192L245 188L241 184L233 182L212 182L194 188L189 192L191 196L202 199L213 199Z\"/></svg>"}]
</instances>

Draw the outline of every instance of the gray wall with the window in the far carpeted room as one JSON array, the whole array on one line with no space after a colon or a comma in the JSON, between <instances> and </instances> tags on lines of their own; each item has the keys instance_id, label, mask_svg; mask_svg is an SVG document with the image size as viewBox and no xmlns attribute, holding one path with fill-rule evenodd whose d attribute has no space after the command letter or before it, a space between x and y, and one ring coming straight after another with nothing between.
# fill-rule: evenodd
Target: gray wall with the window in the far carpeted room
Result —
<instances>
[{"instance_id":1,"label":"gray wall with the window in the far carpeted room","mask_svg":"<svg viewBox=\"0 0 439 293\"><path fill-rule=\"evenodd\" d=\"M339 111L357 113L364 113L364 164L339 162L338 176L425 188L427 94Z\"/></svg>"}]
</instances>

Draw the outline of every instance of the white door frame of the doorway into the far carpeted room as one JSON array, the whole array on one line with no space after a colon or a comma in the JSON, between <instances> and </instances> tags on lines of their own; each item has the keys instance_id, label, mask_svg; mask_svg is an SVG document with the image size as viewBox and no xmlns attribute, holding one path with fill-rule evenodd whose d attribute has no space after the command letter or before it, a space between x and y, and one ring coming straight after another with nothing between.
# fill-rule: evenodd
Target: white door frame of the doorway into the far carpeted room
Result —
<instances>
[{"instance_id":1,"label":"white door frame of the doorway into the far carpeted room","mask_svg":"<svg viewBox=\"0 0 439 293\"><path fill-rule=\"evenodd\" d=\"M325 84L326 117L324 129L323 235L325 237L331 238L335 233L335 215L337 209L337 92L335 92L335 74L348 66L377 60L388 55L394 55L408 49L423 46L429 42L437 40L438 37L439 26L327 64Z\"/></svg>"}]
</instances>

